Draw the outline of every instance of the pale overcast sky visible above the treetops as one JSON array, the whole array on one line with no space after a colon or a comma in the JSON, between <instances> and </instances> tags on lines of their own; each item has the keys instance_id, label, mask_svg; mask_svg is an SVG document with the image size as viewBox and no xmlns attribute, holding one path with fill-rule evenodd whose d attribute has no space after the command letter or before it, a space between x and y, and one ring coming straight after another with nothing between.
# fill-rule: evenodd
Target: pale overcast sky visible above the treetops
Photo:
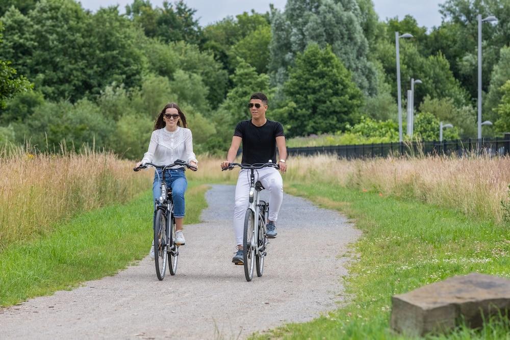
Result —
<instances>
[{"instance_id":1,"label":"pale overcast sky visible above the treetops","mask_svg":"<svg viewBox=\"0 0 510 340\"><path fill-rule=\"evenodd\" d=\"M375 11L380 20L398 16L403 18L406 14L411 14L420 26L432 28L441 24L441 14L439 14L439 4L445 0L372 0ZM174 2L173 0L171 1ZM269 4L276 8L284 9L287 0L185 0L190 8L197 10L196 17L199 17L201 26L219 21L227 15L235 16L251 9L259 13L269 10ZM126 4L132 4L133 0L83 0L82 6L86 9L95 11L99 7L110 5L120 5L120 12L124 13ZM151 0L153 7L161 7L163 0Z\"/></svg>"}]
</instances>

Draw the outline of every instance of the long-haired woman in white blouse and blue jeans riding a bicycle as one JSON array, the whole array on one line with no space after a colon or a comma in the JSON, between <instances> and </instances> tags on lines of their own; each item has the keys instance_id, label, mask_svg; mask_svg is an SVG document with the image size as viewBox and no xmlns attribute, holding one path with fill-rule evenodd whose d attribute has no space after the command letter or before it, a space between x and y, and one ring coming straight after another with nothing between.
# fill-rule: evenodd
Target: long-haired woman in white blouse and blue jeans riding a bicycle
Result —
<instances>
[{"instance_id":1,"label":"long-haired woman in white blouse and blue jeans riding a bicycle","mask_svg":"<svg viewBox=\"0 0 510 340\"><path fill-rule=\"evenodd\" d=\"M193 152L193 138L191 130L187 128L186 117L179 106L174 103L165 105L154 124L154 131L150 136L150 143L143 159L136 164L136 167L147 162L158 165L172 164L175 160L187 161L193 171L197 169L196 155ZM186 243L183 233L184 224L184 193L188 188L188 181L184 173L185 168L174 166L165 170L165 180L168 187L172 188L175 217L175 244ZM161 195L161 169L157 169L152 184L152 195L154 200ZM154 241L150 248L150 257L154 258Z\"/></svg>"}]
</instances>

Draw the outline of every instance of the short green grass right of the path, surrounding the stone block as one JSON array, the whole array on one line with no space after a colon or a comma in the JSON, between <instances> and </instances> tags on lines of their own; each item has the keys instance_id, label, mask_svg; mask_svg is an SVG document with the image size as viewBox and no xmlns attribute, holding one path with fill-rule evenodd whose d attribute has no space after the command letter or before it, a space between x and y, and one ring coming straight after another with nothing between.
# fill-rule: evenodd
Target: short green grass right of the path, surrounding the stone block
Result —
<instances>
[{"instance_id":1,"label":"short green grass right of the path, surrounding the stone block","mask_svg":"<svg viewBox=\"0 0 510 340\"><path fill-rule=\"evenodd\" d=\"M337 208L354 219L363 236L346 256L356 254L360 258L351 263L349 276L344 278L350 298L347 306L257 338L400 338L389 328L394 294L470 272L510 277L508 229L492 222L328 183L294 183L287 188L291 194ZM478 331L460 327L444 338L510 339L509 334L508 323L491 322Z\"/></svg>"}]
</instances>

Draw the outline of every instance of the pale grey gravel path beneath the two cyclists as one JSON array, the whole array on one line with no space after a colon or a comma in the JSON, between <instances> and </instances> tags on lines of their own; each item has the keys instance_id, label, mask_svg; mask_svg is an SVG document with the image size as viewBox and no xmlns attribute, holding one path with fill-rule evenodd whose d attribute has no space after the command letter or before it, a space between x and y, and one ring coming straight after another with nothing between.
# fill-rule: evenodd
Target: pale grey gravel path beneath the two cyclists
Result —
<instances>
[{"instance_id":1,"label":"pale grey gravel path beneath the two cyclists","mask_svg":"<svg viewBox=\"0 0 510 340\"><path fill-rule=\"evenodd\" d=\"M206 197L205 222L185 226L177 275L159 281L147 256L115 276L1 309L0 338L237 339L343 301L348 257L340 255L360 236L345 217L285 195L264 275L246 282L231 263L234 186L214 185Z\"/></svg>"}]
</instances>

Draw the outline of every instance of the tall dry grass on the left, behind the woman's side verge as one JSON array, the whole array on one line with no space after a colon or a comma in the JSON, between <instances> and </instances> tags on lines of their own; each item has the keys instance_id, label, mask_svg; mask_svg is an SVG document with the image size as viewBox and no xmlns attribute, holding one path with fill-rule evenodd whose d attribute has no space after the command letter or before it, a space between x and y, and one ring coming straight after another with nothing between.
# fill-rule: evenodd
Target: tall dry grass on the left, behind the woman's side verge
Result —
<instances>
[{"instance_id":1,"label":"tall dry grass on the left, behind the woman's side verge","mask_svg":"<svg viewBox=\"0 0 510 340\"><path fill-rule=\"evenodd\" d=\"M59 220L150 188L152 174L135 173L133 166L112 153L0 150L0 251L49 231Z\"/></svg>"}]
</instances>

